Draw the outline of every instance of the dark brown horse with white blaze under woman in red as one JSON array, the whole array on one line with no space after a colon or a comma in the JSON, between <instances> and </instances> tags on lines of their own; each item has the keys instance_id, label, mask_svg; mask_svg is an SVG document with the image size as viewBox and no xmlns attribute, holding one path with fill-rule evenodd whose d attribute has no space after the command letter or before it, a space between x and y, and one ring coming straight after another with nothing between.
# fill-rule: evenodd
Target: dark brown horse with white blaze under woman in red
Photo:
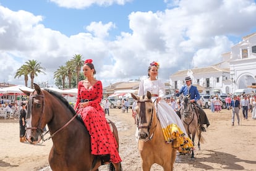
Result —
<instances>
[{"instance_id":1,"label":"dark brown horse with white blaze under woman in red","mask_svg":"<svg viewBox=\"0 0 256 171\"><path fill-rule=\"evenodd\" d=\"M53 147L49 153L52 170L98 170L100 156L91 154L90 135L65 98L51 90L41 90L34 84L35 91L23 93L29 96L27 111L27 139L36 144L43 138L43 128L48 124ZM111 125L119 144L117 129ZM49 138L47 140L49 140ZM113 167L114 165L114 167ZM109 163L109 170L122 170L121 163Z\"/></svg>"}]
</instances>

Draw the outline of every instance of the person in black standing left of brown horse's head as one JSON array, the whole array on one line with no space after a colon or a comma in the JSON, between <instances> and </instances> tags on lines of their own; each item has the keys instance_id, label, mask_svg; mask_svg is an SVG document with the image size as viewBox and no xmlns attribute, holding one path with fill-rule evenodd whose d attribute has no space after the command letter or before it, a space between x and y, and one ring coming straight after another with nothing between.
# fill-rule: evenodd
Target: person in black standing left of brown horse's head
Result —
<instances>
[{"instance_id":1,"label":"person in black standing left of brown horse's head","mask_svg":"<svg viewBox=\"0 0 256 171\"><path fill-rule=\"evenodd\" d=\"M25 138L25 127L26 127L26 123L25 123L25 118L26 118L26 114L27 114L27 111L26 111L26 104L22 102L21 104L22 106L22 109L20 109L20 120L19 120L19 123L20 123L20 143L25 143L26 141L26 138Z\"/></svg>"}]
</instances>

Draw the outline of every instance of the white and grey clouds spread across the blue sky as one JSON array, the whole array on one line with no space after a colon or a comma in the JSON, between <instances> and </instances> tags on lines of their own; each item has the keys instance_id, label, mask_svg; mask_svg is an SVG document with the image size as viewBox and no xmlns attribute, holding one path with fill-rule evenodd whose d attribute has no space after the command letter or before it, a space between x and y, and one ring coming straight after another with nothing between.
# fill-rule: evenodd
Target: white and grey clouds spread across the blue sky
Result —
<instances>
[{"instance_id":1,"label":"white and grey clouds spread across the blue sky","mask_svg":"<svg viewBox=\"0 0 256 171\"><path fill-rule=\"evenodd\" d=\"M68 6L69 1L61 2ZM71 2L85 6L84 1ZM103 2L128 1L87 3ZM130 33L123 31L109 40L109 31L119 27L114 22L92 21L84 32L66 36L46 28L41 15L0 6L0 82L23 84L23 78L13 76L25 61L34 59L47 73L35 81L54 84L53 72L74 54L93 59L96 78L103 86L147 76L153 60L160 62L160 79L168 80L177 70L221 62L221 54L234 44L229 36L241 38L256 28L255 14L255 2L249 0L175 1L171 9L131 12L127 16Z\"/></svg>"}]
</instances>

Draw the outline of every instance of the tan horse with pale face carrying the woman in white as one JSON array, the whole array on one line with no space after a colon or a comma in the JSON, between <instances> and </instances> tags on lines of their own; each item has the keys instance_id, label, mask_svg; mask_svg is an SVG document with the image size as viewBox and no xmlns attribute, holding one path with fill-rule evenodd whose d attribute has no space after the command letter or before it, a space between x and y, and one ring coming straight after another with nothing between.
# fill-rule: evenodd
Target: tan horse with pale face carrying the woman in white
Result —
<instances>
[{"instance_id":1,"label":"tan horse with pale face carrying the woman in white","mask_svg":"<svg viewBox=\"0 0 256 171\"><path fill-rule=\"evenodd\" d=\"M135 107L137 127L139 128L140 157L142 158L142 169L149 171L151 165L159 164L165 171L173 170L176 159L176 149L171 144L166 144L160 121L156 116L156 109L151 100L151 93L147 96L136 96Z\"/></svg>"}]
</instances>

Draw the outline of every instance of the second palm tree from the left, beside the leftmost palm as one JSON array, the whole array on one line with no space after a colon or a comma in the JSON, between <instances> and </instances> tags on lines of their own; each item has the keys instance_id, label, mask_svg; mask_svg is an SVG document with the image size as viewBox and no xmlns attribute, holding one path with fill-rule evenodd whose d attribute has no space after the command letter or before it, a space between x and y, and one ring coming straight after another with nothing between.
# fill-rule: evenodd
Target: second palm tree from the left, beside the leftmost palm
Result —
<instances>
[{"instance_id":1,"label":"second palm tree from the left, beside the leftmost palm","mask_svg":"<svg viewBox=\"0 0 256 171\"><path fill-rule=\"evenodd\" d=\"M25 65L28 67L28 73L30 74L31 78L31 88L33 88L34 78L35 76L38 76L38 73L45 73L43 70L45 70L44 67L40 66L41 63L38 63L36 60L28 60L25 62Z\"/></svg>"}]
</instances>

